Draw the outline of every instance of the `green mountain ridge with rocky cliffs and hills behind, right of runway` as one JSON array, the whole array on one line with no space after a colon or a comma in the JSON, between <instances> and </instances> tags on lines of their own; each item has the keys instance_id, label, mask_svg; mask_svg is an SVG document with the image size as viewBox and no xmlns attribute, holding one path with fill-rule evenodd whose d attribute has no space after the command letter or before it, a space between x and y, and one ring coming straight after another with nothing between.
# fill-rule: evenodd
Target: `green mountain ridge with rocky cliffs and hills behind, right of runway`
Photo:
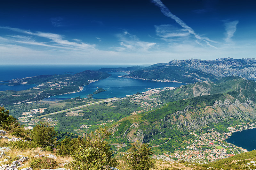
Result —
<instances>
[{"instance_id":1,"label":"green mountain ridge with rocky cliffs and hills behind, right of runway","mask_svg":"<svg viewBox=\"0 0 256 170\"><path fill-rule=\"evenodd\" d=\"M194 97L194 89L198 85L209 95ZM126 117L112 127L113 137L131 141L139 139L148 143L155 138L186 136L188 131L209 128L221 122L256 120L256 82L251 80L228 77L221 79L218 84L199 82L169 92L173 95L177 93L176 96L183 96L183 99L153 111Z\"/></svg>"}]
</instances>

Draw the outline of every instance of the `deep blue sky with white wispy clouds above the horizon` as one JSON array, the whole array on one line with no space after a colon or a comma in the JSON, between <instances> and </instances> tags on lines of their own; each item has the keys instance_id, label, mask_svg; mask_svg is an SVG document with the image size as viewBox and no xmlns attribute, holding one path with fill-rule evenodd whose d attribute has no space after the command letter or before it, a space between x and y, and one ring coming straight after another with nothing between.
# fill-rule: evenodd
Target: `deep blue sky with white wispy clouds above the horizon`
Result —
<instances>
[{"instance_id":1,"label":"deep blue sky with white wispy clouds above the horizon","mask_svg":"<svg viewBox=\"0 0 256 170\"><path fill-rule=\"evenodd\" d=\"M1 1L1 64L255 58L255 7L252 0Z\"/></svg>"}]
</instances>

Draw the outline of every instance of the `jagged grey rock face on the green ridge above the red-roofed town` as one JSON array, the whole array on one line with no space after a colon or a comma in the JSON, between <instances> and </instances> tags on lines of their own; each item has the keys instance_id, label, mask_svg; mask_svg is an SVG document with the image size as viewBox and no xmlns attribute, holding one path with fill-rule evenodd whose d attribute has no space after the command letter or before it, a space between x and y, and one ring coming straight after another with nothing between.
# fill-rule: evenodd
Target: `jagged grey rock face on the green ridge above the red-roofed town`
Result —
<instances>
[{"instance_id":1,"label":"jagged grey rock face on the green ridge above the red-roofed town","mask_svg":"<svg viewBox=\"0 0 256 170\"><path fill-rule=\"evenodd\" d=\"M174 125L177 129L197 130L210 123L228 121L232 118L256 119L256 107L252 100L239 100L231 102L225 99L224 102L216 100L212 106L198 110L195 107L187 106L184 110L166 115L161 122ZM168 125L166 125L168 126Z\"/></svg>"}]
</instances>

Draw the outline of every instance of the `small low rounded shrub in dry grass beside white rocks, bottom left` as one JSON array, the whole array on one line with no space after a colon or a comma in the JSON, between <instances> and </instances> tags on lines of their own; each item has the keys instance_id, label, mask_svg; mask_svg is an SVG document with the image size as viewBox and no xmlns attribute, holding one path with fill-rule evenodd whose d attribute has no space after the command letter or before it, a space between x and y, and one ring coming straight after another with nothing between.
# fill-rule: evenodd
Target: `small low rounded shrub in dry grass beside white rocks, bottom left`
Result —
<instances>
[{"instance_id":1,"label":"small low rounded shrub in dry grass beside white rocks, bottom left","mask_svg":"<svg viewBox=\"0 0 256 170\"><path fill-rule=\"evenodd\" d=\"M54 159L48 157L38 157L31 160L30 166L35 169L52 169L56 168L57 163Z\"/></svg>"}]
</instances>

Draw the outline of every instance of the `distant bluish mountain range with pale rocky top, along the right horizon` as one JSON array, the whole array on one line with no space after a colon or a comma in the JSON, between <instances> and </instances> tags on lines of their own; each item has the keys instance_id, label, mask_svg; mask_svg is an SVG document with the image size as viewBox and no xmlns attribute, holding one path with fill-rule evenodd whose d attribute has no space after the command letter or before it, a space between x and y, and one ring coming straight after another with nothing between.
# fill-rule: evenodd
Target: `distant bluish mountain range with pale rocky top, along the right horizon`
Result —
<instances>
[{"instance_id":1,"label":"distant bluish mountain range with pale rocky top, along the right horizon","mask_svg":"<svg viewBox=\"0 0 256 170\"><path fill-rule=\"evenodd\" d=\"M256 59L172 60L169 63L157 63L142 70L133 71L125 77L194 83L214 82L227 76L256 79Z\"/></svg>"}]
</instances>

